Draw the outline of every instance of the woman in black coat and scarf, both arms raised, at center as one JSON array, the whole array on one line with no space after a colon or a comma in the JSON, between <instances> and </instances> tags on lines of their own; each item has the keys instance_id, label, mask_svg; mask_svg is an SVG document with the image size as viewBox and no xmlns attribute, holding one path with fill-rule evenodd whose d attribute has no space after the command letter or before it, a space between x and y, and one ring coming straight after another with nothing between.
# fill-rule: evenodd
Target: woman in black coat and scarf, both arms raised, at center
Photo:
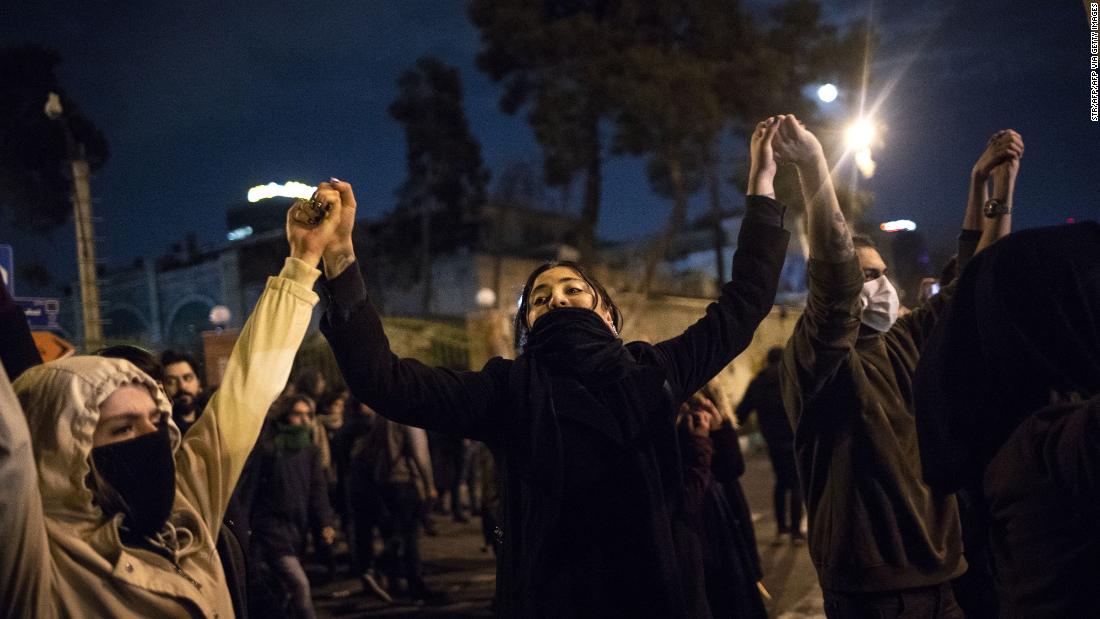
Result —
<instances>
[{"instance_id":1,"label":"woman in black coat and scarf, both arms raised, at center","mask_svg":"<svg viewBox=\"0 0 1100 619\"><path fill-rule=\"evenodd\" d=\"M524 287L515 361L430 368L389 351L359 268L346 268L350 229L344 251L326 255L321 330L355 396L399 423L483 441L496 456L501 616L685 615L670 528L682 487L675 411L748 345L772 306L789 240L771 188L776 126L754 133L732 281L695 324L658 344L624 344L607 291L560 263Z\"/></svg>"}]
</instances>

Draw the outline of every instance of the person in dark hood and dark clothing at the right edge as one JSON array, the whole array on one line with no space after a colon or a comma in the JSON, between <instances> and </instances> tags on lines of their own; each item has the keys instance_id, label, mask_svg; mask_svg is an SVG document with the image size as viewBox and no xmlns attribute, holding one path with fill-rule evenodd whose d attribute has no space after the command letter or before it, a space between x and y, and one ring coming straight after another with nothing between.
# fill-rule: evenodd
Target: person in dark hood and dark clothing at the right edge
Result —
<instances>
[{"instance_id":1,"label":"person in dark hood and dark clothing at the right edge","mask_svg":"<svg viewBox=\"0 0 1100 619\"><path fill-rule=\"evenodd\" d=\"M974 258L915 398L926 482L985 516L971 533L988 535L1000 615L1096 616L1100 224L1016 232Z\"/></svg>"}]
</instances>

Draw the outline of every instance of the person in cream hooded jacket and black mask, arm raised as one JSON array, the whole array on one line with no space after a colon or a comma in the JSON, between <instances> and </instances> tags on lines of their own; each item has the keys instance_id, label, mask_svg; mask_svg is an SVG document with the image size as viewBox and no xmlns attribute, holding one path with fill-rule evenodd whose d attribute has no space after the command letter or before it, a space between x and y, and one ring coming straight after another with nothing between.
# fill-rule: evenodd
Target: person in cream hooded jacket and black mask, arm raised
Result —
<instances>
[{"instance_id":1,"label":"person in cream hooded jacket and black mask, arm raised","mask_svg":"<svg viewBox=\"0 0 1100 619\"><path fill-rule=\"evenodd\" d=\"M350 188L346 188L350 191ZM75 356L26 369L0 406L0 617L232 617L215 539L267 407L290 374L343 212L288 212L290 256L271 277L222 383L184 438L132 363Z\"/></svg>"}]
</instances>

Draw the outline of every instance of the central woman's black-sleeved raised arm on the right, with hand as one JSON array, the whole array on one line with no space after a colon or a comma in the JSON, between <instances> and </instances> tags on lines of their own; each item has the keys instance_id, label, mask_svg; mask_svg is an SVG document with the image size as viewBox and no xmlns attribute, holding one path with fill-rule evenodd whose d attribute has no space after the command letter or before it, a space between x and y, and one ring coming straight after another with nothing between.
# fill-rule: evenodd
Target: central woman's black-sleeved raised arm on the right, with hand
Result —
<instances>
[{"instance_id":1,"label":"central woman's black-sleeved raised arm on the right, with hand","mask_svg":"<svg viewBox=\"0 0 1100 619\"><path fill-rule=\"evenodd\" d=\"M691 397L744 351L776 301L791 236L783 230L783 207L774 200L772 189L776 163L771 143L778 121L773 117L760 122L752 134L749 195L730 280L702 319L654 346L676 400Z\"/></svg>"}]
</instances>

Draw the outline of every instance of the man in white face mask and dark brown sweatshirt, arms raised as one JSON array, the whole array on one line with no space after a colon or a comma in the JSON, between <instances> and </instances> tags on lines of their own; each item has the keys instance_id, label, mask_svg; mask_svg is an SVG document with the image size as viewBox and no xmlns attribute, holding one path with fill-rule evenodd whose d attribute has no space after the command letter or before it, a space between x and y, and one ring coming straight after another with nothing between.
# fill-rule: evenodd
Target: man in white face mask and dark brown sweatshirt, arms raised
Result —
<instances>
[{"instance_id":1,"label":"man in white face mask and dark brown sweatshirt, arms raised","mask_svg":"<svg viewBox=\"0 0 1100 619\"><path fill-rule=\"evenodd\" d=\"M826 616L963 617L950 585L967 570L958 508L921 478L912 390L921 346L954 287L899 318L886 263L849 232L816 137L787 117L774 147L798 168L807 211L810 296L780 380ZM1022 140L1007 130L976 164L960 269L1008 233L1022 154Z\"/></svg>"}]
</instances>

